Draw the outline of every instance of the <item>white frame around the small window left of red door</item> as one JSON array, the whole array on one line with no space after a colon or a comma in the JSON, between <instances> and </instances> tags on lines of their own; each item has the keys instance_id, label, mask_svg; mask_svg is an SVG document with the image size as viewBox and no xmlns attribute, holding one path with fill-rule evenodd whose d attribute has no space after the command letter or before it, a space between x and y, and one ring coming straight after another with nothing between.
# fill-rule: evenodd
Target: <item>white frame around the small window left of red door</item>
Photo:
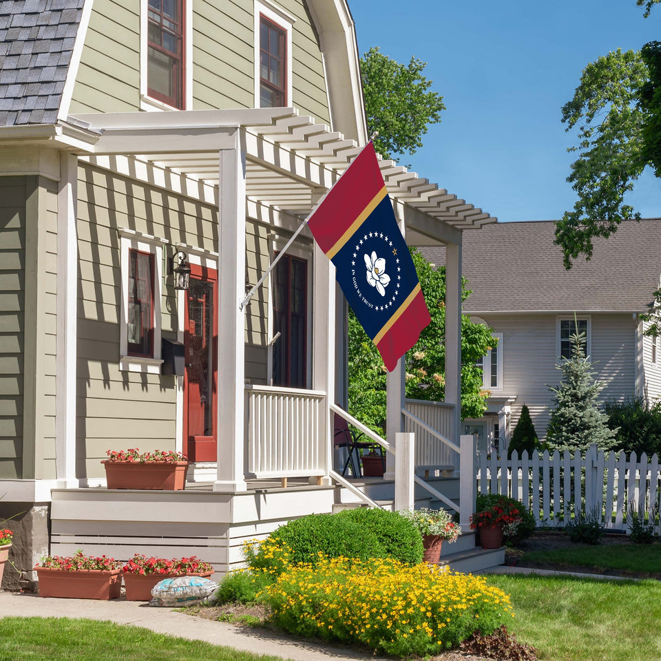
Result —
<instances>
[{"instance_id":1,"label":"white frame around the small window left of red door","mask_svg":"<svg viewBox=\"0 0 661 661\"><path fill-rule=\"evenodd\" d=\"M119 319L119 368L126 372L144 372L160 374L162 364L161 339L161 297L163 288L163 247L165 239L141 234L129 229L120 229L120 263L122 271L122 300L120 301ZM154 255L154 355L128 355L128 324L129 316L129 250L139 250Z\"/></svg>"}]
</instances>

